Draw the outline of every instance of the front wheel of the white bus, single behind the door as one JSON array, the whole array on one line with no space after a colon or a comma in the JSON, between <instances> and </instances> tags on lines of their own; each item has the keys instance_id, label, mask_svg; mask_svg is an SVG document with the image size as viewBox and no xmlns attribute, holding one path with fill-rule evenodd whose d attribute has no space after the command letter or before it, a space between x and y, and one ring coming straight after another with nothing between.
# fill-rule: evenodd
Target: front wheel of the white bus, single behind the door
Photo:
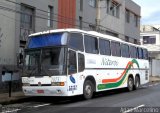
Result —
<instances>
[{"instance_id":1,"label":"front wheel of the white bus, single behind the door","mask_svg":"<svg viewBox=\"0 0 160 113\"><path fill-rule=\"evenodd\" d=\"M94 85L90 80L85 81L83 86L83 96L85 99L91 99L93 96Z\"/></svg>"}]
</instances>

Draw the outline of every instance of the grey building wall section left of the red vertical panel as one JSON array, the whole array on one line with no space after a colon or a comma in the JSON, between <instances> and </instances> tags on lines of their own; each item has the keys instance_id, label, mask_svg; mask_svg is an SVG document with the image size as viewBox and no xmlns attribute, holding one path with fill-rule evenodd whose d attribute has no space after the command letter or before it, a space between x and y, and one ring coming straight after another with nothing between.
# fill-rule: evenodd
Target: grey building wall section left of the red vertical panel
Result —
<instances>
[{"instance_id":1,"label":"grey building wall section left of the red vertical panel","mask_svg":"<svg viewBox=\"0 0 160 113\"><path fill-rule=\"evenodd\" d=\"M0 93L21 88L20 65L28 35L54 29L55 0L1 0L0 2Z\"/></svg>"}]
</instances>

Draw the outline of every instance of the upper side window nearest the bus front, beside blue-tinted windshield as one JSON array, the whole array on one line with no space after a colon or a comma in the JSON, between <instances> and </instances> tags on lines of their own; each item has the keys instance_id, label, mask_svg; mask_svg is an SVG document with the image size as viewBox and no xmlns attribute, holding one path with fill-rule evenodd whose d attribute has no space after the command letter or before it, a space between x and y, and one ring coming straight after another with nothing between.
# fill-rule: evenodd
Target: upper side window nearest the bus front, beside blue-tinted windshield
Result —
<instances>
[{"instance_id":1,"label":"upper side window nearest the bus front, beside blue-tinted windshield","mask_svg":"<svg viewBox=\"0 0 160 113\"><path fill-rule=\"evenodd\" d=\"M82 34L71 33L69 38L69 47L72 49L84 51Z\"/></svg>"}]
</instances>

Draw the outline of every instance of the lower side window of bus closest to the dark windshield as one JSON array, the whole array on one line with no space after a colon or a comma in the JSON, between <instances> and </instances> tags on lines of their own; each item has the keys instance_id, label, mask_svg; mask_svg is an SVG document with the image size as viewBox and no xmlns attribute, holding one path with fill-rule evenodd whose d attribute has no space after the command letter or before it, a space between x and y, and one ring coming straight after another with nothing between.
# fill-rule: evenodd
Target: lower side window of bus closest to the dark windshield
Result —
<instances>
[{"instance_id":1,"label":"lower side window of bus closest to the dark windshield","mask_svg":"<svg viewBox=\"0 0 160 113\"><path fill-rule=\"evenodd\" d=\"M77 72L76 52L69 50L68 74Z\"/></svg>"}]
</instances>

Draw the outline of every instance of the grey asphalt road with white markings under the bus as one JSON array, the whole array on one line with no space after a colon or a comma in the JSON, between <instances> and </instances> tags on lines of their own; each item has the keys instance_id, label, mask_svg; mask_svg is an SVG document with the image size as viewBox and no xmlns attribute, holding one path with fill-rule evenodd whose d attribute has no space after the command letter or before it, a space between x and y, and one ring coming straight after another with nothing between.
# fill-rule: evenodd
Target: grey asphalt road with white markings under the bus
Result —
<instances>
[{"instance_id":1,"label":"grey asphalt road with white markings under the bus","mask_svg":"<svg viewBox=\"0 0 160 113\"><path fill-rule=\"evenodd\" d=\"M4 105L2 113L159 113L160 83L138 90L125 89L97 93L91 100L81 96L71 98L32 97L21 103Z\"/></svg>"}]
</instances>

